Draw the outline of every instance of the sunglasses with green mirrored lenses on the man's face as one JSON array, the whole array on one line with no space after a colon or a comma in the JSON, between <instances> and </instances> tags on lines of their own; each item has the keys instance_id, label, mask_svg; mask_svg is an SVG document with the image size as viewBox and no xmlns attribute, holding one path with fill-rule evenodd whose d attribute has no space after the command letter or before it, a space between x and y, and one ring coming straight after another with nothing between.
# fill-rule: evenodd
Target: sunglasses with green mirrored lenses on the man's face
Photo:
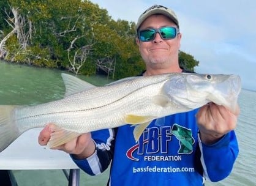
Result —
<instances>
[{"instance_id":1,"label":"sunglasses with green mirrored lenses on the man's face","mask_svg":"<svg viewBox=\"0 0 256 186\"><path fill-rule=\"evenodd\" d=\"M164 40L174 39L179 34L179 29L171 26L162 27L159 29L146 29L138 31L138 39L141 42L150 42L155 39L156 33L159 33Z\"/></svg>"}]
</instances>

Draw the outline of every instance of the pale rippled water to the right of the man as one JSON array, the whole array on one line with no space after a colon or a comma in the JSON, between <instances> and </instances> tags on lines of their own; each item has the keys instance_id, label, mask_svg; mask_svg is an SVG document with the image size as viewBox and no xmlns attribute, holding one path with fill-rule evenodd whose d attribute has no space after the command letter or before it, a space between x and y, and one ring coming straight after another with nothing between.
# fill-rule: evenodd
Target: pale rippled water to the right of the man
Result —
<instances>
[{"instance_id":1,"label":"pale rippled water to the right of the man","mask_svg":"<svg viewBox=\"0 0 256 186\"><path fill-rule=\"evenodd\" d=\"M239 155L232 174L216 184L207 182L206 186L256 185L256 92L242 90L238 103L241 109L236 128Z\"/></svg>"}]
</instances>

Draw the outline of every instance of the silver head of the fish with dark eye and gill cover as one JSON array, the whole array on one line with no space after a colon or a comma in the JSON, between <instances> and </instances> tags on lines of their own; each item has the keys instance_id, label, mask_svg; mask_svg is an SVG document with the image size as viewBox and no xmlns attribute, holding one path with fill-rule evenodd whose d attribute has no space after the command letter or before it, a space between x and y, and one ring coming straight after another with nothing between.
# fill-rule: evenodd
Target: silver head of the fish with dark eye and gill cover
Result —
<instances>
[{"instance_id":1,"label":"silver head of the fish with dark eye and gill cover","mask_svg":"<svg viewBox=\"0 0 256 186\"><path fill-rule=\"evenodd\" d=\"M171 102L191 109L214 102L235 111L240 91L238 75L177 73L164 85Z\"/></svg>"}]
</instances>

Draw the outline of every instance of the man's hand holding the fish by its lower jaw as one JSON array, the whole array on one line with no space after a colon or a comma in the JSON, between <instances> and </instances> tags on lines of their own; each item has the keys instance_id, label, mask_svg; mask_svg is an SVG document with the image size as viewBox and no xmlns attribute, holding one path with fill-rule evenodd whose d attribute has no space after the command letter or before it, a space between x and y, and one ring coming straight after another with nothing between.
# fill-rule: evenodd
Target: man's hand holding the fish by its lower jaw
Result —
<instances>
[{"instance_id":1,"label":"man's hand holding the fish by its lower jaw","mask_svg":"<svg viewBox=\"0 0 256 186\"><path fill-rule=\"evenodd\" d=\"M213 144L226 133L234 130L239 112L238 105L234 113L214 103L202 106L196 116L201 141L205 144Z\"/></svg>"}]
</instances>

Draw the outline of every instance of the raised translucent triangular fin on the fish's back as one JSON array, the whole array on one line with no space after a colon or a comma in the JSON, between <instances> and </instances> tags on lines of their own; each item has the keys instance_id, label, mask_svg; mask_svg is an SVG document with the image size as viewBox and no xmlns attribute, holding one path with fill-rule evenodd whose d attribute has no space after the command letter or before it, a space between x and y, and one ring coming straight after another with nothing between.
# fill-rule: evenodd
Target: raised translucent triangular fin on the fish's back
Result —
<instances>
[{"instance_id":1,"label":"raised translucent triangular fin on the fish's back","mask_svg":"<svg viewBox=\"0 0 256 186\"><path fill-rule=\"evenodd\" d=\"M62 73L61 76L66 87L65 97L95 87L93 84L87 83L67 73Z\"/></svg>"}]
</instances>

